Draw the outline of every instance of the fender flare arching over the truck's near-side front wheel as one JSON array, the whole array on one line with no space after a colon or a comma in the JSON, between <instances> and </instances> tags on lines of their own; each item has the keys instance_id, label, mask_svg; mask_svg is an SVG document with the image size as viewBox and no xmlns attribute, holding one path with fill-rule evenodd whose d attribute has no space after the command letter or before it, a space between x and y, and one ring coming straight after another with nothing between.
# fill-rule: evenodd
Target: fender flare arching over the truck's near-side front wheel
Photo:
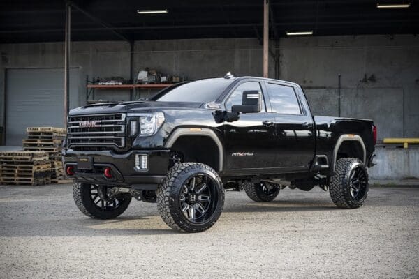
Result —
<instances>
[{"instance_id":1,"label":"fender flare arching over the truck's near-side front wheel","mask_svg":"<svg viewBox=\"0 0 419 279\"><path fill-rule=\"evenodd\" d=\"M221 172L223 170L223 144L221 144L221 141L219 137L216 136L216 133L214 133L213 130L209 128L196 128L196 127L190 127L190 128L177 128L169 137L168 140L166 140L166 143L164 144L164 147L170 149L173 144L177 141L179 137L183 136L206 136L211 137L212 140L214 140L216 146L219 149L219 169L218 171Z\"/></svg>"}]
</instances>

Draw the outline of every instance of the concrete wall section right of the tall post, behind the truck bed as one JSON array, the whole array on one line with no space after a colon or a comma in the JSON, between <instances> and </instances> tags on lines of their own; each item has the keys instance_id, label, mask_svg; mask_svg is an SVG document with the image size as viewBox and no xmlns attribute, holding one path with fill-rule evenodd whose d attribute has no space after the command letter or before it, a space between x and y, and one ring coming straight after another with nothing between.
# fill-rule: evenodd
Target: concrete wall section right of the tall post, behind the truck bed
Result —
<instances>
[{"instance_id":1,"label":"concrete wall section right of the tall post, behind the truck bed","mask_svg":"<svg viewBox=\"0 0 419 279\"><path fill-rule=\"evenodd\" d=\"M281 78L305 87L314 114L374 119L378 138L419 137L419 37L281 40ZM365 79L365 77L367 77Z\"/></svg>"}]
</instances>

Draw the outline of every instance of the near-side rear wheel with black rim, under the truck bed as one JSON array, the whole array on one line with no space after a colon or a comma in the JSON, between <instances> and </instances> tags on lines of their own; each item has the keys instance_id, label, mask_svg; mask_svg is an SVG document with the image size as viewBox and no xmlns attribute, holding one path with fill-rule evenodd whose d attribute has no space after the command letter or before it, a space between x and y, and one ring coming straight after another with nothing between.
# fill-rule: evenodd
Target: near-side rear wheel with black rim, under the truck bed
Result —
<instances>
[{"instance_id":1,"label":"near-side rear wheel with black rim, under the truck bed","mask_svg":"<svg viewBox=\"0 0 419 279\"><path fill-rule=\"evenodd\" d=\"M335 174L330 177L329 192L336 206L356 209L364 204L368 195L368 173L358 158L337 160Z\"/></svg>"}]
</instances>

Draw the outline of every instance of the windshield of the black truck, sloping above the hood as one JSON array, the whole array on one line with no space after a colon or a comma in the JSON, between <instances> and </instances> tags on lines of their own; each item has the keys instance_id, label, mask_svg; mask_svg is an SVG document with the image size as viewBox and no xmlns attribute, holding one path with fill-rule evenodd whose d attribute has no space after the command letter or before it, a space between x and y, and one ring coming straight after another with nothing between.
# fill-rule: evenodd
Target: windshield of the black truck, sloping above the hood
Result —
<instances>
[{"instance_id":1,"label":"windshield of the black truck, sloping above the hood","mask_svg":"<svg viewBox=\"0 0 419 279\"><path fill-rule=\"evenodd\" d=\"M179 86L170 87L161 91L151 100L159 102L214 102L227 86L233 82L232 79L211 79L196 80Z\"/></svg>"}]
</instances>

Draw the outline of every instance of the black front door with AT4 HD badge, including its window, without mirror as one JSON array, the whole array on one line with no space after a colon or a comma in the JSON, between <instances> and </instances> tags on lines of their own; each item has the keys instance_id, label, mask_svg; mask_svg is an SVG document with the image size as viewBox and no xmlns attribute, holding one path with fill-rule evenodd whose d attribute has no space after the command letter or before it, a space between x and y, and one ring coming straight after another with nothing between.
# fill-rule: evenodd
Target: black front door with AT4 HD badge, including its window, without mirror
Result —
<instances>
[{"instance_id":1,"label":"black front door with AT4 HD badge, including its window, without mirror","mask_svg":"<svg viewBox=\"0 0 419 279\"><path fill-rule=\"evenodd\" d=\"M225 110L242 105L243 91L262 93L260 112L240 113L240 119L224 122L226 174L274 173L277 135L274 114L266 109L264 92L258 80L237 84L226 97Z\"/></svg>"}]
</instances>

